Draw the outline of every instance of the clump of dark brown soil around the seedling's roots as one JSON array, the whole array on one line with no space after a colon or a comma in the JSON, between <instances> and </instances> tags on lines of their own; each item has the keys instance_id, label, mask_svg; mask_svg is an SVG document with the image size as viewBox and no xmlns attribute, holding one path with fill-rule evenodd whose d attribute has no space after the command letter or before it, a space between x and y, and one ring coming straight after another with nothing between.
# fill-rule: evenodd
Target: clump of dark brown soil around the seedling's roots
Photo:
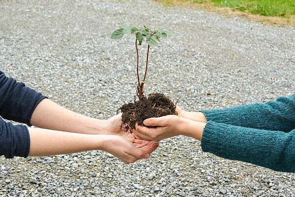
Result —
<instances>
[{"instance_id":1,"label":"clump of dark brown soil around the seedling's roots","mask_svg":"<svg viewBox=\"0 0 295 197\"><path fill-rule=\"evenodd\" d=\"M161 93L152 93L148 98L143 97L138 101L123 104L119 110L122 112L122 124L126 132L130 128L135 129L135 123L144 126L144 120L152 117L177 115L176 105ZM130 131L132 132L132 131Z\"/></svg>"}]
</instances>

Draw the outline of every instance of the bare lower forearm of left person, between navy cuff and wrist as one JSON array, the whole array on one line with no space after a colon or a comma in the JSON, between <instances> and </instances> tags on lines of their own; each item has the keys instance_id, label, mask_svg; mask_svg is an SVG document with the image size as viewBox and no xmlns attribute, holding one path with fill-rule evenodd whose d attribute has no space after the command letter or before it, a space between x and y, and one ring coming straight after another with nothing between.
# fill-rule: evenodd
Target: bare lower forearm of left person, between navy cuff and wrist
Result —
<instances>
[{"instance_id":1,"label":"bare lower forearm of left person, between navy cuff and wrist","mask_svg":"<svg viewBox=\"0 0 295 197\"><path fill-rule=\"evenodd\" d=\"M29 128L29 156L70 154L89 150L102 150L105 135L90 135Z\"/></svg>"}]
</instances>

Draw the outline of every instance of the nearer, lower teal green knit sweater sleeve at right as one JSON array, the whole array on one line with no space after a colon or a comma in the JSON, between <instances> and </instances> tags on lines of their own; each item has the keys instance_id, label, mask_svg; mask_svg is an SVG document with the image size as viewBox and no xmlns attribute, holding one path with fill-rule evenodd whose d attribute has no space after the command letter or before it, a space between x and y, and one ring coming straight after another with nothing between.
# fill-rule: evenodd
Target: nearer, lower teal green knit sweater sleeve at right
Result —
<instances>
[{"instance_id":1,"label":"nearer, lower teal green knit sweater sleeve at right","mask_svg":"<svg viewBox=\"0 0 295 197\"><path fill-rule=\"evenodd\" d=\"M295 130L266 131L209 121L201 146L226 159L295 172Z\"/></svg>"}]
</instances>

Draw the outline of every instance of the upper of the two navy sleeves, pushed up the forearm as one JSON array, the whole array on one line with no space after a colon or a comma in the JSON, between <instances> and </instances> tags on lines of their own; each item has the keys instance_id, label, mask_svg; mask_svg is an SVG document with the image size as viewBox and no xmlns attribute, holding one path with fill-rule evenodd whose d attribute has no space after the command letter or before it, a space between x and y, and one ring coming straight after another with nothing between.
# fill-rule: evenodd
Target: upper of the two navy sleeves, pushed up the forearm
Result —
<instances>
[{"instance_id":1,"label":"upper of the two navy sleeves, pushed up the forearm","mask_svg":"<svg viewBox=\"0 0 295 197\"><path fill-rule=\"evenodd\" d=\"M31 115L46 97L0 71L0 116L31 126Z\"/></svg>"}]
</instances>

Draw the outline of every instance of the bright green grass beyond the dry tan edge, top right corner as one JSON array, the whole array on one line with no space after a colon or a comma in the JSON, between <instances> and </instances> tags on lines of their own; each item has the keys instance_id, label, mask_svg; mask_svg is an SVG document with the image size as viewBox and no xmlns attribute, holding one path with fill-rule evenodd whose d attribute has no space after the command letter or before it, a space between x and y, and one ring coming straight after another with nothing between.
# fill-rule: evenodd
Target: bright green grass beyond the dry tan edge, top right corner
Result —
<instances>
[{"instance_id":1,"label":"bright green grass beyond the dry tan edge, top right corner","mask_svg":"<svg viewBox=\"0 0 295 197\"><path fill-rule=\"evenodd\" d=\"M295 0L186 0L189 2L213 2L221 7L259 14L263 16L289 17L295 15Z\"/></svg>"}]
</instances>

